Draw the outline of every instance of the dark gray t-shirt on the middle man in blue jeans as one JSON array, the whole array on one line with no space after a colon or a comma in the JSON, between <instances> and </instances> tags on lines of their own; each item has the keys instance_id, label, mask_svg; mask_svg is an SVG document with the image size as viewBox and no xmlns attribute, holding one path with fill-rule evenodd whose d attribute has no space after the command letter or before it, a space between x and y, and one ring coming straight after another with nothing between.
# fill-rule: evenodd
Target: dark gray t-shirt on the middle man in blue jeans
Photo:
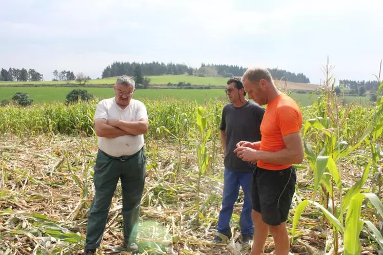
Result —
<instances>
[{"instance_id":1,"label":"dark gray t-shirt on the middle man in blue jeans","mask_svg":"<svg viewBox=\"0 0 383 255\"><path fill-rule=\"evenodd\" d=\"M238 158L233 151L239 141L260 141L260 123L264 113L264 108L250 100L241 107L234 107L232 103L225 105L219 126L226 133L225 168L241 172L253 171L255 166Z\"/></svg>"}]
</instances>

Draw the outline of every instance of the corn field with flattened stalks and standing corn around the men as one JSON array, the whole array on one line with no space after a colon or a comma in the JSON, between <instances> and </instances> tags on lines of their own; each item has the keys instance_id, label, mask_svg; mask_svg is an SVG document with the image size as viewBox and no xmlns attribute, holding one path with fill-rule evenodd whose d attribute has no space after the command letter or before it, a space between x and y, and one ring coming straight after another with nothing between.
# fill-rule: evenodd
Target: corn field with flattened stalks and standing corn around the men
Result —
<instances>
[{"instance_id":1,"label":"corn field with flattened stalks and standing corn around the men","mask_svg":"<svg viewBox=\"0 0 383 255\"><path fill-rule=\"evenodd\" d=\"M294 254L378 254L383 249L383 83L372 107L343 105L331 86L301 108L305 160L287 222ZM317 96L317 95L315 95ZM246 254L212 242L223 191L219 139L226 101L143 100L147 178L140 254ZM96 101L0 108L0 254L82 254L94 194ZM98 254L123 242L117 186ZM274 250L272 236L265 253Z\"/></svg>"}]
</instances>

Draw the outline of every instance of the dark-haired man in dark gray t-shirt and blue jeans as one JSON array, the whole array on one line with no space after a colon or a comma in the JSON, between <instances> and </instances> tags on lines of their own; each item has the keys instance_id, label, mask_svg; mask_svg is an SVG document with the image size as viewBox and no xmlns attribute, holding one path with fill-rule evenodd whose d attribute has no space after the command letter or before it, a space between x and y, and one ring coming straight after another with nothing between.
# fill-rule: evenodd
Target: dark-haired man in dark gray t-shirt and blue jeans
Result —
<instances>
[{"instance_id":1,"label":"dark-haired man in dark gray t-shirt and blue jeans","mask_svg":"<svg viewBox=\"0 0 383 255\"><path fill-rule=\"evenodd\" d=\"M255 165L238 158L234 150L239 141L260 141L260 123L265 109L255 102L246 100L246 92L240 79L231 78L227 84L226 94L230 103L223 109L219 126L225 155L225 173L222 208L219 212L217 231L229 239L231 238L230 220L234 203L238 198L239 186L241 186L244 191L244 206L240 214L239 225L243 242L249 242L253 239L254 232L251 218L251 181ZM217 236L214 241L220 243L223 240Z\"/></svg>"}]
</instances>

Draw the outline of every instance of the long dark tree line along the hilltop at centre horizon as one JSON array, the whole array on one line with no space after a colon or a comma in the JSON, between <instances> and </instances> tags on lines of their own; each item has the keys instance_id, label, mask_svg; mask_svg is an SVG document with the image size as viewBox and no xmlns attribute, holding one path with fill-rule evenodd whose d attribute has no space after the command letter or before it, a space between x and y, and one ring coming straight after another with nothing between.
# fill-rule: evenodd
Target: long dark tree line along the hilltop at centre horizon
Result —
<instances>
[{"instance_id":1,"label":"long dark tree line along the hilltop at centre horizon","mask_svg":"<svg viewBox=\"0 0 383 255\"><path fill-rule=\"evenodd\" d=\"M134 75L134 70L139 67L142 75L178 75L188 74L199 77L233 77L242 76L246 67L234 66L234 65L213 65L201 63L199 68L188 67L185 64L180 63L167 63L164 62L119 62L115 61L111 65L107 66L102 72L102 78L120 76L120 75ZM292 73L286 70L277 70L276 68L268 69L270 73L276 79L283 79L292 82L310 83L310 79L303 73Z\"/></svg>"}]
</instances>

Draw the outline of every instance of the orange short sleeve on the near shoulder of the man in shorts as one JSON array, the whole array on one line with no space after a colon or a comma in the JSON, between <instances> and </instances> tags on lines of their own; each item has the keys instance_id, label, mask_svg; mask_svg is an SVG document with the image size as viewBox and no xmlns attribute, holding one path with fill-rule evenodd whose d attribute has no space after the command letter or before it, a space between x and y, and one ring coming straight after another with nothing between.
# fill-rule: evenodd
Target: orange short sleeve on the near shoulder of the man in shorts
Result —
<instances>
[{"instance_id":1,"label":"orange short sleeve on the near shoulder of the man in shorts","mask_svg":"<svg viewBox=\"0 0 383 255\"><path fill-rule=\"evenodd\" d=\"M283 136L300 132L301 128L301 115L293 107L284 105L277 110L277 123Z\"/></svg>"}]
</instances>

